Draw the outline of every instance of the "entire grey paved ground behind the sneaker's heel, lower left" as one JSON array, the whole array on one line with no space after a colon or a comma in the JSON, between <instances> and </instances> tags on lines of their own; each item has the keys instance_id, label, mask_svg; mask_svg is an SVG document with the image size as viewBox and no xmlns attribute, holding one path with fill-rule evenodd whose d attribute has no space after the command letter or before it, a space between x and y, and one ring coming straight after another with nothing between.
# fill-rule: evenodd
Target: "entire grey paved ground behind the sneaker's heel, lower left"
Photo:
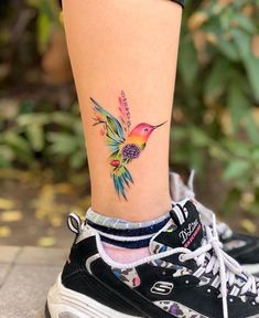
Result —
<instances>
[{"instance_id":1,"label":"entire grey paved ground behind the sneaker's heel, lower left","mask_svg":"<svg viewBox=\"0 0 259 318\"><path fill-rule=\"evenodd\" d=\"M0 318L43 318L68 250L0 246Z\"/></svg>"}]
</instances>

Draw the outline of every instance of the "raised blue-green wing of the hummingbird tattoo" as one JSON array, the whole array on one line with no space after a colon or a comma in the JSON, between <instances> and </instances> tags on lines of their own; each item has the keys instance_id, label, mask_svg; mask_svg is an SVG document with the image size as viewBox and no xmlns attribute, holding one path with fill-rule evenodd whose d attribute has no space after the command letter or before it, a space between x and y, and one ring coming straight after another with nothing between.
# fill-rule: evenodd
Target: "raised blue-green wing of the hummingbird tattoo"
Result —
<instances>
[{"instance_id":1,"label":"raised blue-green wing of the hummingbird tattoo","mask_svg":"<svg viewBox=\"0 0 259 318\"><path fill-rule=\"evenodd\" d=\"M94 104L94 112L100 118L96 119L96 124L105 124L107 144L111 150L111 155L119 151L119 146L125 141L125 130L118 119L116 119L109 112L102 108L94 98L90 97Z\"/></svg>"}]
</instances>

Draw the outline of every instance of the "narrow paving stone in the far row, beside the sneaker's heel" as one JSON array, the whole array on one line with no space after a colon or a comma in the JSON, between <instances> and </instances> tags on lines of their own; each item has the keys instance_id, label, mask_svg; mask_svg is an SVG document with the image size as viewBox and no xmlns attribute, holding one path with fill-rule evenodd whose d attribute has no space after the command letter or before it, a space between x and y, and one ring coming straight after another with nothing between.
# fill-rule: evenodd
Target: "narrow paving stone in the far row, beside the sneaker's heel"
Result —
<instances>
[{"instance_id":1,"label":"narrow paving stone in the far row, beside the sneaker's heel","mask_svg":"<svg viewBox=\"0 0 259 318\"><path fill-rule=\"evenodd\" d=\"M45 248L25 246L19 254L15 264L62 266L68 255L66 248Z\"/></svg>"}]
</instances>

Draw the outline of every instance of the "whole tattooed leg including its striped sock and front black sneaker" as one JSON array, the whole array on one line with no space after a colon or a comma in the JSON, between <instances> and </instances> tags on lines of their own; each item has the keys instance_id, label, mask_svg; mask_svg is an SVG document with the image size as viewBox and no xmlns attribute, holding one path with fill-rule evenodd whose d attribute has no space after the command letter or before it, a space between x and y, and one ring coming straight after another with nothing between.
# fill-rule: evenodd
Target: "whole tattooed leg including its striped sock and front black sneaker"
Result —
<instances>
[{"instance_id":1,"label":"whole tattooed leg including its striped sock and front black sneaker","mask_svg":"<svg viewBox=\"0 0 259 318\"><path fill-rule=\"evenodd\" d=\"M77 236L48 293L52 318L258 317L256 279L220 250L215 226L203 226L193 202L180 201L165 219L159 218L171 210L169 124L180 6L169 0L65 0L64 10L93 208L107 218L97 214L96 220L89 210L94 221L87 216L82 224L69 215ZM125 93L120 99L123 120L116 116L121 89L127 93L127 100ZM119 250L123 262L110 257L116 252L107 253L112 244L125 247Z\"/></svg>"}]
</instances>

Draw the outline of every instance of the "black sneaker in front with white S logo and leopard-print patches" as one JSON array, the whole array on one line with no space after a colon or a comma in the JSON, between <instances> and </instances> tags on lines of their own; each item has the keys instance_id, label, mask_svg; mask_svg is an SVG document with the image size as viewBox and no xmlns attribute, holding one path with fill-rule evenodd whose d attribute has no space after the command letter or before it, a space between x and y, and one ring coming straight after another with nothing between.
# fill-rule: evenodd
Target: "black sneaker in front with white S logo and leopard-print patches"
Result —
<instances>
[{"instance_id":1,"label":"black sneaker in front with white S logo and leopard-print patches","mask_svg":"<svg viewBox=\"0 0 259 318\"><path fill-rule=\"evenodd\" d=\"M177 203L150 242L151 255L114 262L99 234L69 215L77 232L63 273L47 296L52 318L256 318L259 282L222 251L191 201ZM204 231L205 229L205 231Z\"/></svg>"}]
</instances>

